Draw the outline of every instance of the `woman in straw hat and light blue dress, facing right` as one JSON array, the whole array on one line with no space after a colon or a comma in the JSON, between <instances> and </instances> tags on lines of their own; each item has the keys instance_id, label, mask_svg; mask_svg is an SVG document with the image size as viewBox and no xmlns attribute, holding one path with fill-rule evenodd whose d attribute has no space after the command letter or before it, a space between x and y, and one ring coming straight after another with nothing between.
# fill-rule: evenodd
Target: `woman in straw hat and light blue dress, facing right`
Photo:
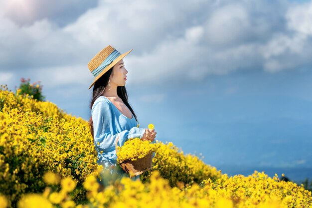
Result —
<instances>
[{"instance_id":1,"label":"woman in straw hat and light blue dress, facing right","mask_svg":"<svg viewBox=\"0 0 312 208\"><path fill-rule=\"evenodd\" d=\"M88 63L95 77L89 87L90 89L94 85L89 126L98 152L97 162L109 169L111 174L117 173L121 178L128 174L117 165L117 138L119 137L118 145L123 146L128 139L134 137L154 142L157 134L154 130L139 128L137 116L128 103L125 87L128 71L123 57L131 51L121 54L108 45ZM140 176L132 179L140 179Z\"/></svg>"}]
</instances>

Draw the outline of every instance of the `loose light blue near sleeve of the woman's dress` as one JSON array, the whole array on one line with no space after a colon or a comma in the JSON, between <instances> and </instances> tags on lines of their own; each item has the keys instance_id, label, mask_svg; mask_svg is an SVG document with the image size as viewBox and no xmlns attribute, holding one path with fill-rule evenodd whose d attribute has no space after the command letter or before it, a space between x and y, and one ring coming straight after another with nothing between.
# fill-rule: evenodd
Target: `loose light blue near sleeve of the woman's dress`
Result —
<instances>
[{"instance_id":1,"label":"loose light blue near sleeve of the woman's dress","mask_svg":"<svg viewBox=\"0 0 312 208\"><path fill-rule=\"evenodd\" d=\"M114 123L111 106L106 100L94 102L91 115L94 131L94 145L99 152L113 151L118 136L118 145L121 147L128 139L134 137L139 137L141 139L145 133L145 129L133 127L129 131L125 130L114 134L114 132L116 132L116 125Z\"/></svg>"}]
</instances>

